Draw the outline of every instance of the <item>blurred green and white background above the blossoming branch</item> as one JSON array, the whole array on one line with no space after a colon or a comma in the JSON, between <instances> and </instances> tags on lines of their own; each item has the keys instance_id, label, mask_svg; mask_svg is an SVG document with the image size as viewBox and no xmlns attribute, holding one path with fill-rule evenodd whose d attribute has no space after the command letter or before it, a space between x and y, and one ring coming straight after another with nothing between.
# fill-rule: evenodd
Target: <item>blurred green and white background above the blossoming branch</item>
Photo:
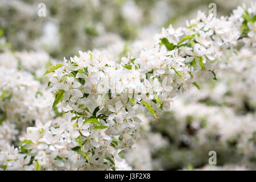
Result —
<instances>
[{"instance_id":1,"label":"blurred green and white background above the blossoming branch","mask_svg":"<svg viewBox=\"0 0 256 182\"><path fill-rule=\"evenodd\" d=\"M0 26L12 49L44 49L62 59L79 50L150 39L169 24L184 25L198 10L208 13L210 3L216 3L220 17L243 2L250 4L236 0L1 0ZM46 17L38 16L39 3L46 4Z\"/></svg>"}]
</instances>

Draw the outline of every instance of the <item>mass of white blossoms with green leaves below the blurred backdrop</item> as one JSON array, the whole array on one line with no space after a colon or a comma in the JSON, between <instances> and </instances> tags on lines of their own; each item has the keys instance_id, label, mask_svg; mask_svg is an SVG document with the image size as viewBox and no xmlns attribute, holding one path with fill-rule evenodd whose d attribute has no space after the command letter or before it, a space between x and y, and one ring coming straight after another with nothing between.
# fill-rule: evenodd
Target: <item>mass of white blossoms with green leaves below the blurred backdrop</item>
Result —
<instances>
[{"instance_id":1,"label":"mass of white blossoms with green leaves below the blurred backdrop","mask_svg":"<svg viewBox=\"0 0 256 182\"><path fill-rule=\"evenodd\" d=\"M79 51L79 56L64 57L63 63L57 63L44 52L10 52L5 48L0 54L0 169L152 169L163 163L160 156L151 164L150 157L127 152L137 147L151 156L159 148L168 148L167 139L147 129L147 122L154 121L151 127L159 123L155 127L159 132L172 135L168 134L168 123L162 127L162 122L155 122L168 109L178 113L177 133L187 129L185 122L193 115L189 126L198 130L196 139L184 135L183 143L194 148L197 144L206 146L207 138L217 135L223 146L236 140L242 154L255 157L253 114L237 117L232 109L197 103L209 94L202 80L221 79L218 84L225 90L219 94L220 90L213 89L217 94L209 94L208 100L221 102L231 93L228 102L234 108L240 110L237 100L243 98L250 108L255 106L255 11L256 3L249 8L239 6L221 18L199 11L185 27L162 28L142 50L136 49L142 46L134 42L126 57L95 49ZM242 84L230 80L241 80ZM236 92L230 84L236 86ZM246 93L248 86L246 96L236 97ZM205 112L196 114L198 110ZM226 113L228 124L223 123ZM233 127L232 133L227 127Z\"/></svg>"}]
</instances>

